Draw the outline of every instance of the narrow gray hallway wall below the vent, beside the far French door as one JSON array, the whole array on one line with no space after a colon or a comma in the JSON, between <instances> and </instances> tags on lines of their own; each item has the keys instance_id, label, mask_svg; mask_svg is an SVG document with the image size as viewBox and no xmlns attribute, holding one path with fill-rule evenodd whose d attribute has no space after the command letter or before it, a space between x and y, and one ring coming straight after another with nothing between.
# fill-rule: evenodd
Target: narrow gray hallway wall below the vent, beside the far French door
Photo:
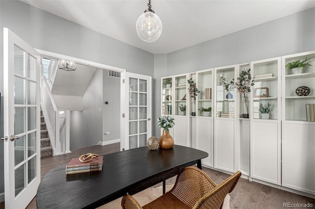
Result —
<instances>
[{"instance_id":1,"label":"narrow gray hallway wall below the vent, beside the far French door","mask_svg":"<svg viewBox=\"0 0 315 209\"><path fill-rule=\"evenodd\" d=\"M120 78L108 77L103 72L103 142L120 139ZM105 104L108 102L108 104ZM106 131L110 134L104 135Z\"/></svg>"}]
</instances>

